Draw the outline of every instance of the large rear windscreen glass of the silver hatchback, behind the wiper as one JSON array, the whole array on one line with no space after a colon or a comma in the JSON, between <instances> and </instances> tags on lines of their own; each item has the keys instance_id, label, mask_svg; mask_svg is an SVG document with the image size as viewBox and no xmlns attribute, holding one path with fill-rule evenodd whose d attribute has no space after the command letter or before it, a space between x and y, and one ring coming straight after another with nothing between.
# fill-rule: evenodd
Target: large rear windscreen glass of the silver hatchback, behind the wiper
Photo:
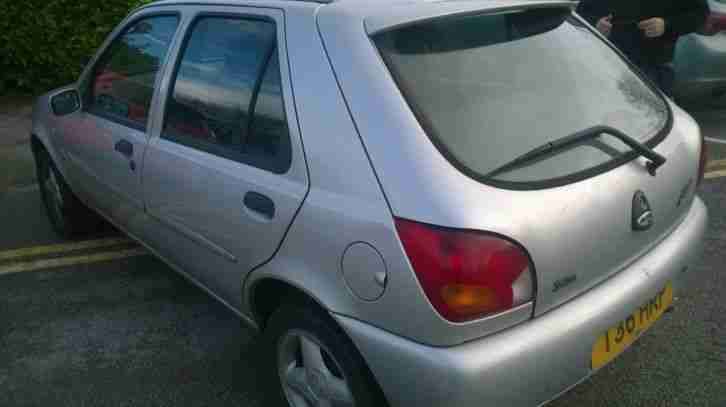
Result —
<instances>
[{"instance_id":1,"label":"large rear windscreen glass of the silver hatchback, behind the wiper","mask_svg":"<svg viewBox=\"0 0 726 407\"><path fill-rule=\"evenodd\" d=\"M602 136L488 174L596 125L653 145L669 123L665 101L569 10L439 19L374 42L434 144L483 182L516 188L583 179L634 155Z\"/></svg>"}]
</instances>

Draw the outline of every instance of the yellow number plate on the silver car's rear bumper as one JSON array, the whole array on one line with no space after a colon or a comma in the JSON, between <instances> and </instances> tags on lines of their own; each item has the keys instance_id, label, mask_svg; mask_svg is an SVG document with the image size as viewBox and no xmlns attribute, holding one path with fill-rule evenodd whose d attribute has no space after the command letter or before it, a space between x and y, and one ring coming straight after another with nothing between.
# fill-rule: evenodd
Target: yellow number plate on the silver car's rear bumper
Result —
<instances>
[{"instance_id":1,"label":"yellow number plate on the silver car's rear bumper","mask_svg":"<svg viewBox=\"0 0 726 407\"><path fill-rule=\"evenodd\" d=\"M655 297L638 307L630 316L610 327L592 346L592 368L598 369L624 351L648 329L673 302L670 282Z\"/></svg>"}]
</instances>

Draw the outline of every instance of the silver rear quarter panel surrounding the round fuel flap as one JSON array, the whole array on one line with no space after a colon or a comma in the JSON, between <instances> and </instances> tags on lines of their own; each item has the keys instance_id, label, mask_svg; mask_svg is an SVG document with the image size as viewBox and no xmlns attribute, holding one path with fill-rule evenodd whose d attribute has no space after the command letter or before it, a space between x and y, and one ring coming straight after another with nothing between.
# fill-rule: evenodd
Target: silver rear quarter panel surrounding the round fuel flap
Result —
<instances>
[{"instance_id":1,"label":"silver rear quarter panel surrounding the round fuel flap","mask_svg":"<svg viewBox=\"0 0 726 407\"><path fill-rule=\"evenodd\" d=\"M531 304L489 321L484 330L451 329L454 325L435 314L408 267L376 172L317 36L315 15L288 10L287 17L296 100L319 101L297 105L311 188L278 253L248 278L244 312L253 314L257 285L275 279L298 287L328 310L425 343L461 343L528 319ZM353 295L343 278L343 253L358 241L375 247L386 264L385 291L376 301Z\"/></svg>"}]
</instances>

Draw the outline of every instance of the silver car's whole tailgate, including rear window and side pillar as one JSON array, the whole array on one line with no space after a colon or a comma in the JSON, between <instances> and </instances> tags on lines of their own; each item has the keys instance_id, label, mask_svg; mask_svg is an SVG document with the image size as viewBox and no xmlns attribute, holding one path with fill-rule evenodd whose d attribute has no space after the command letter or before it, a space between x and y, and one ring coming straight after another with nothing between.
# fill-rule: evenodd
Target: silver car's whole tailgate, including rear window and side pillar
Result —
<instances>
[{"instance_id":1,"label":"silver car's whole tailgate, including rear window and side pillar","mask_svg":"<svg viewBox=\"0 0 726 407\"><path fill-rule=\"evenodd\" d=\"M652 249L691 206L697 125L572 15L571 4L392 2L385 11L370 7L365 36L350 17L361 12L353 3L321 10L321 36L392 215L505 236L534 264L532 308L456 324L426 320L406 326L411 337L452 345L521 322L532 309L546 312ZM340 23L345 18L350 24ZM603 136L486 176L596 125L619 129L667 162L651 176L645 159ZM637 191L654 214L645 231L632 229ZM410 264L405 272L415 273Z\"/></svg>"}]
</instances>

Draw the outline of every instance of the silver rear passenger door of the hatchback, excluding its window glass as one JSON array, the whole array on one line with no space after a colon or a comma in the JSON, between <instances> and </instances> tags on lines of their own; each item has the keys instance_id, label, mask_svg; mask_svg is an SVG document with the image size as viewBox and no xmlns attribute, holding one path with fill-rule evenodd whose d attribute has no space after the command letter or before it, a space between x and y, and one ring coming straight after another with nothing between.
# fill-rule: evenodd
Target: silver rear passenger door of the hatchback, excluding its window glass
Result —
<instances>
[{"instance_id":1,"label":"silver rear passenger door of the hatchback, excluding its window glass","mask_svg":"<svg viewBox=\"0 0 726 407\"><path fill-rule=\"evenodd\" d=\"M152 219L144 226L144 236L165 257L185 265L196 279L240 308L246 273L272 257L308 190L287 71L284 16L273 8L185 6L182 9L187 29L196 16L214 14L269 18L276 22L278 30L278 54L292 140L290 169L284 174L275 174L160 138L160 121L155 123L144 166L144 197ZM174 59L180 58L181 53L183 50L175 49ZM170 75L168 72L165 78L169 79ZM162 95L169 94L169 82L163 83ZM163 105L158 109L157 118L164 117ZM245 206L245 196L250 192L272 200L275 214L271 219Z\"/></svg>"}]
</instances>

